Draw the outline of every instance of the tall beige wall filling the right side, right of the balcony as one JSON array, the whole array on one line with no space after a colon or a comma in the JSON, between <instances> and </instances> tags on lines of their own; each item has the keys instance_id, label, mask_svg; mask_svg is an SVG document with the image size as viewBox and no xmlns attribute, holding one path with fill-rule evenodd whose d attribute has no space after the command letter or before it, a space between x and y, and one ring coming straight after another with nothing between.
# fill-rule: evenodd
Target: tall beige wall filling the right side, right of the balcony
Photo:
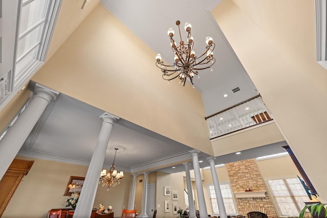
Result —
<instances>
[{"instance_id":1,"label":"tall beige wall filling the right side, right of the balcony","mask_svg":"<svg viewBox=\"0 0 327 218\"><path fill-rule=\"evenodd\" d=\"M326 200L327 72L316 62L315 1L222 1L213 15Z\"/></svg>"}]
</instances>

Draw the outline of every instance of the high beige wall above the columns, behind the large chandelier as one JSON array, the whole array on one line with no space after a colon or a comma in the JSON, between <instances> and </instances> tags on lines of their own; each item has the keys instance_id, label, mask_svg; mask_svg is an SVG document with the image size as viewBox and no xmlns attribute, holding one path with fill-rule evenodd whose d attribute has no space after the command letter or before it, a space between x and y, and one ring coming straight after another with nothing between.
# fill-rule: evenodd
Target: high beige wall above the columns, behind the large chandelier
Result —
<instances>
[{"instance_id":1,"label":"high beige wall above the columns, behind the large chandelier","mask_svg":"<svg viewBox=\"0 0 327 218\"><path fill-rule=\"evenodd\" d=\"M168 86L155 56L99 4L32 80L213 155L201 94Z\"/></svg>"}]
</instances>

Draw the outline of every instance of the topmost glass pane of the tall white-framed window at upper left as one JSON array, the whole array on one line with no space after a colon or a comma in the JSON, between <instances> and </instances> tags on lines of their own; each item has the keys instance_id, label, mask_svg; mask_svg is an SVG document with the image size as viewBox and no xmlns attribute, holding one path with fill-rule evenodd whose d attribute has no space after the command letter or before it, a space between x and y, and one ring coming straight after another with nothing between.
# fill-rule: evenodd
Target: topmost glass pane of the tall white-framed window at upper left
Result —
<instances>
[{"instance_id":1,"label":"topmost glass pane of the tall white-framed window at upper left","mask_svg":"<svg viewBox=\"0 0 327 218\"><path fill-rule=\"evenodd\" d=\"M48 0L35 0L22 7L19 22L19 35L30 30L31 27L40 23L46 14Z\"/></svg>"}]
</instances>

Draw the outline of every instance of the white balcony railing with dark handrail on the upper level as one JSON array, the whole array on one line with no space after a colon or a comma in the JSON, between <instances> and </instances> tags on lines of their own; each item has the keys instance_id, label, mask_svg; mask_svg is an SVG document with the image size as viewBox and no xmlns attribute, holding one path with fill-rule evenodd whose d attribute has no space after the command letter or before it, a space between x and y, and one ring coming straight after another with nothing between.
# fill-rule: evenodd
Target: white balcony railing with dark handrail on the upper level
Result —
<instances>
[{"instance_id":1,"label":"white balcony railing with dark handrail on the upper level","mask_svg":"<svg viewBox=\"0 0 327 218\"><path fill-rule=\"evenodd\" d=\"M218 113L205 117L208 122L210 139L240 131L272 120L272 115L263 103L261 96L251 99Z\"/></svg>"}]
</instances>

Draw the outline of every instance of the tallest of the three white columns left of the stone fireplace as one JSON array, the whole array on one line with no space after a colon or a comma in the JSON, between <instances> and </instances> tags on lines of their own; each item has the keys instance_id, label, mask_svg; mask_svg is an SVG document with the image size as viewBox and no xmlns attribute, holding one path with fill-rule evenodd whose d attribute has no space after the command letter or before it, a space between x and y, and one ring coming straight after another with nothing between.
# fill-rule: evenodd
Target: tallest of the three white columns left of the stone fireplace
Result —
<instances>
[{"instance_id":1,"label":"tallest of the three white columns left of the stone fireplace","mask_svg":"<svg viewBox=\"0 0 327 218\"><path fill-rule=\"evenodd\" d=\"M194 169L194 176L195 176L196 192L198 195L200 217L208 218L208 212L205 206L203 185L202 185L202 179L200 173L200 165L199 165L199 158L198 158L199 151L193 150L190 151L190 153L192 154L192 160L193 160L193 169Z\"/></svg>"}]
</instances>

